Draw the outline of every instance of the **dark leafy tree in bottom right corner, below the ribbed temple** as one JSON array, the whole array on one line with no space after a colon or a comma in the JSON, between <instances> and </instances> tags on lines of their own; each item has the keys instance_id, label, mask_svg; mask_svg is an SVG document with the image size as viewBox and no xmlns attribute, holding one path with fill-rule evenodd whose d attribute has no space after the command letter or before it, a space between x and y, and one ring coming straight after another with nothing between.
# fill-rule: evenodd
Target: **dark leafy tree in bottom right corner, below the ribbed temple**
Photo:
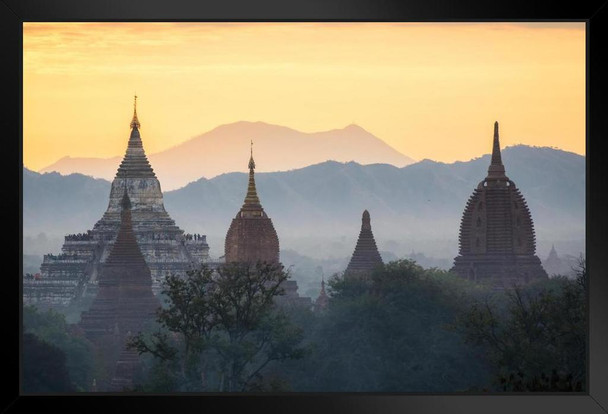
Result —
<instances>
[{"instance_id":1,"label":"dark leafy tree in bottom right corner, below the ribbed temple","mask_svg":"<svg viewBox=\"0 0 608 414\"><path fill-rule=\"evenodd\" d=\"M471 344L483 346L504 391L583 391L586 376L587 272L515 288L506 309L473 304L456 323Z\"/></svg>"}]
</instances>

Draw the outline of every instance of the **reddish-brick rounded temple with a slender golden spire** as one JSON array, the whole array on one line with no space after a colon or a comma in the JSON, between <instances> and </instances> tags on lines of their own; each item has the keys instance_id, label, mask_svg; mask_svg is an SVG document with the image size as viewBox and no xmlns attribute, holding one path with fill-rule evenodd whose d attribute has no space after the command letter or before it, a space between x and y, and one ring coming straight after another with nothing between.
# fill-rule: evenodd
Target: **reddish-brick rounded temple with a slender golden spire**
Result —
<instances>
[{"instance_id":1,"label":"reddish-brick rounded temple with a slender golden spire","mask_svg":"<svg viewBox=\"0 0 608 414\"><path fill-rule=\"evenodd\" d=\"M253 142L249 158L249 184L240 211L232 219L224 244L226 263L279 263L279 238L272 220L260 204L255 188Z\"/></svg>"}]
</instances>

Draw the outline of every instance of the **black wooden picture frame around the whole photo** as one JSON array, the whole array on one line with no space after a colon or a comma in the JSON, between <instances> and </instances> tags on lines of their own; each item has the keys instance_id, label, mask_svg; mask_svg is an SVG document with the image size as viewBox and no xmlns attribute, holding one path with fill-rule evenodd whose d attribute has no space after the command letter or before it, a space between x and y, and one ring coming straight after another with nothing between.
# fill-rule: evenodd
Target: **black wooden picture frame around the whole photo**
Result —
<instances>
[{"instance_id":1,"label":"black wooden picture frame around the whole photo","mask_svg":"<svg viewBox=\"0 0 608 414\"><path fill-rule=\"evenodd\" d=\"M286 413L602 413L608 412L608 1L557 3L537 0L0 0L1 95L5 183L17 186L2 205L7 254L21 275L22 259L22 65L24 22L42 21L583 21L587 28L586 257L589 271L588 391L529 394L283 393L232 395L60 395L20 392L21 276L4 272L2 307L7 339L1 393L3 412L286 412ZM15 195L17 197L15 198ZM5 227L6 228L6 227ZM5 262L6 263L6 262Z\"/></svg>"}]
</instances>

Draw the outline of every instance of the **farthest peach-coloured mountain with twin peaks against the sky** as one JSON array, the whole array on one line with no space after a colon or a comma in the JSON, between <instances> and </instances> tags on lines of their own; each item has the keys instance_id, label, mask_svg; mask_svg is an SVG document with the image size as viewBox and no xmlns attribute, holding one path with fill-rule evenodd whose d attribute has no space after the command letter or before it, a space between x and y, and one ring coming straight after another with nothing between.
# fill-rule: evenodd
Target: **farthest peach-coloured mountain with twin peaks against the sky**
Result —
<instances>
[{"instance_id":1,"label":"farthest peach-coloured mountain with twin peaks against the sky","mask_svg":"<svg viewBox=\"0 0 608 414\"><path fill-rule=\"evenodd\" d=\"M141 134L145 148L145 126ZM125 135L125 148L127 137ZM327 160L385 163L397 167L414 162L355 124L305 133L284 126L246 121L221 125L165 151L149 154L148 159L162 188L174 190L201 177L247 171L251 140L259 172L285 171ZM121 159L64 157L40 172L81 173L112 180Z\"/></svg>"}]
</instances>

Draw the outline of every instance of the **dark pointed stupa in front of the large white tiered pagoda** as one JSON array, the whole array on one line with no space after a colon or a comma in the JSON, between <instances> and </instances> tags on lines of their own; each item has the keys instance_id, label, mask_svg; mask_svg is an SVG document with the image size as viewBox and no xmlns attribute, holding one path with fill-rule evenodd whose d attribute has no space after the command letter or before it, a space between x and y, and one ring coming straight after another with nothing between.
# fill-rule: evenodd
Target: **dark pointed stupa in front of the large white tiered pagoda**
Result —
<instances>
[{"instance_id":1,"label":"dark pointed stupa in front of the large white tiered pagoda","mask_svg":"<svg viewBox=\"0 0 608 414\"><path fill-rule=\"evenodd\" d=\"M102 265L98 291L88 311L82 312L80 327L97 345L112 380L102 389L121 391L132 387L139 358L126 349L130 335L154 321L160 301L152 293L152 277L133 231L131 202L125 189L121 202L121 224L110 254Z\"/></svg>"}]
</instances>

